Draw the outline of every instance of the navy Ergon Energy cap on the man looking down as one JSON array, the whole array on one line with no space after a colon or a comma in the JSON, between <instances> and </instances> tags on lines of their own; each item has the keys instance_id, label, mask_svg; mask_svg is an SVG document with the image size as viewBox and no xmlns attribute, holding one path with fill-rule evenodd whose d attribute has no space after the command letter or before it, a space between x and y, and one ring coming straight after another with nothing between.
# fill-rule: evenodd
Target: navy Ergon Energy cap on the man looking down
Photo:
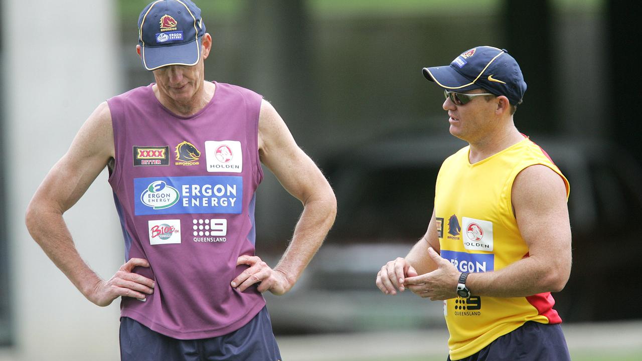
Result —
<instances>
[{"instance_id":1,"label":"navy Ergon Energy cap on the man looking down","mask_svg":"<svg viewBox=\"0 0 642 361\"><path fill-rule=\"evenodd\" d=\"M157 0L138 17L138 44L147 70L198 63L205 24L190 0Z\"/></svg>"}]
</instances>

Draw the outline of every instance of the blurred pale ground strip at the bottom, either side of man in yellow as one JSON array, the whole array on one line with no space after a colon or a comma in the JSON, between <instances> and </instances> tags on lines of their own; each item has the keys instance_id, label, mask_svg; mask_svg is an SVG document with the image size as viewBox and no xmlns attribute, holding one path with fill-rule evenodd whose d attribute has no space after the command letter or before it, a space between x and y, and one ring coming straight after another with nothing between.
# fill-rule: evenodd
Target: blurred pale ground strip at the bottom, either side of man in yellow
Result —
<instances>
[{"instance_id":1,"label":"blurred pale ground strip at the bottom, either side of man in yellow","mask_svg":"<svg viewBox=\"0 0 642 361\"><path fill-rule=\"evenodd\" d=\"M573 361L642 360L642 321L563 324ZM283 360L444 361L447 331L406 330L277 337Z\"/></svg>"}]
</instances>

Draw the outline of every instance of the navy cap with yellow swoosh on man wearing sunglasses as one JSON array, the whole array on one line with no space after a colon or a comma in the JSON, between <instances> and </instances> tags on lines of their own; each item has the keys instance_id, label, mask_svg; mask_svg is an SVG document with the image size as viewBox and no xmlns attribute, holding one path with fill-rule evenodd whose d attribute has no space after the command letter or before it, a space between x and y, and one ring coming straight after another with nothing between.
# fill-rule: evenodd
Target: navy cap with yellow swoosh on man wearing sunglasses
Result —
<instances>
[{"instance_id":1,"label":"navy cap with yellow swoosh on man wearing sunglasses","mask_svg":"<svg viewBox=\"0 0 642 361\"><path fill-rule=\"evenodd\" d=\"M424 76L444 89L469 91L483 88L503 95L512 105L521 103L526 82L515 58L506 49L478 46L456 57L450 66L424 67Z\"/></svg>"}]
</instances>

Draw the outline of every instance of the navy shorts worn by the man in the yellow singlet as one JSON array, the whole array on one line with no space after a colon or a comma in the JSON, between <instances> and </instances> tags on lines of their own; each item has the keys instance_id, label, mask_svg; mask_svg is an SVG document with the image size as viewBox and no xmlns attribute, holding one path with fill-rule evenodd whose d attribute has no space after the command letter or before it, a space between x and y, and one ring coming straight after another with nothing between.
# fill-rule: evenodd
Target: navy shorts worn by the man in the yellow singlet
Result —
<instances>
[{"instance_id":1,"label":"navy shorts worn by the man in the yellow singlet","mask_svg":"<svg viewBox=\"0 0 642 361\"><path fill-rule=\"evenodd\" d=\"M447 359L451 361L450 357ZM465 361L570 361L560 324L528 321L517 330L498 337Z\"/></svg>"}]
</instances>

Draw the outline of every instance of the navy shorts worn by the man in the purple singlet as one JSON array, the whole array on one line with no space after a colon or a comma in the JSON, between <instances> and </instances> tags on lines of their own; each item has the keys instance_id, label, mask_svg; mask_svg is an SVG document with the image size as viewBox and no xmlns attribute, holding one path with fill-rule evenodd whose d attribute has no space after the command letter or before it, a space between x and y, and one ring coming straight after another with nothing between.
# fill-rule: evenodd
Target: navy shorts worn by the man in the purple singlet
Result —
<instances>
[{"instance_id":1,"label":"navy shorts worn by the man in the purple singlet","mask_svg":"<svg viewBox=\"0 0 642 361\"><path fill-rule=\"evenodd\" d=\"M122 361L281 360L265 307L234 332L198 340L173 339L129 317L121 317L120 345Z\"/></svg>"}]
</instances>

